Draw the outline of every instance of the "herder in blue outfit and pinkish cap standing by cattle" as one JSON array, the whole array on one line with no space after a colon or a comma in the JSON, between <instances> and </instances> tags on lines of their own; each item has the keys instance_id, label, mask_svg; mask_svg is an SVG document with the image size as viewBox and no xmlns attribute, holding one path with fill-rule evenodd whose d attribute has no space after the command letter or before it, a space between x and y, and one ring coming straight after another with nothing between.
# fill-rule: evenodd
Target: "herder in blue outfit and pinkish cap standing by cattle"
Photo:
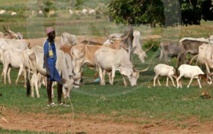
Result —
<instances>
[{"instance_id":1,"label":"herder in blue outfit and pinkish cap standing by cattle","mask_svg":"<svg viewBox=\"0 0 213 134\"><path fill-rule=\"evenodd\" d=\"M48 106L54 106L55 103L52 102L52 82L57 81L57 93L58 93L58 103L63 104L61 102L62 97L62 85L64 80L59 75L56 69L56 46L55 46L55 30L52 27L46 28L46 34L48 36L47 40L44 43L44 67L47 72L47 96L48 96Z\"/></svg>"}]
</instances>

